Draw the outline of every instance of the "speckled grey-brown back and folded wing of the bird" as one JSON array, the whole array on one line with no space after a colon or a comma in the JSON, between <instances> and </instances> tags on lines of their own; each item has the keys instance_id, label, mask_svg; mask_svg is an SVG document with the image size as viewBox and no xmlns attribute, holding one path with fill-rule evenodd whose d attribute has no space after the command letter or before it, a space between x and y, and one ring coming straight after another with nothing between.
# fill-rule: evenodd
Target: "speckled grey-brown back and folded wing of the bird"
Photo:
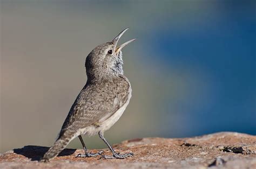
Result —
<instances>
[{"instance_id":1,"label":"speckled grey-brown back and folded wing of the bird","mask_svg":"<svg viewBox=\"0 0 256 169\"><path fill-rule=\"evenodd\" d=\"M73 103L59 135L66 130L76 131L109 118L126 103L129 93L130 83L125 78L115 82L86 85Z\"/></svg>"}]
</instances>

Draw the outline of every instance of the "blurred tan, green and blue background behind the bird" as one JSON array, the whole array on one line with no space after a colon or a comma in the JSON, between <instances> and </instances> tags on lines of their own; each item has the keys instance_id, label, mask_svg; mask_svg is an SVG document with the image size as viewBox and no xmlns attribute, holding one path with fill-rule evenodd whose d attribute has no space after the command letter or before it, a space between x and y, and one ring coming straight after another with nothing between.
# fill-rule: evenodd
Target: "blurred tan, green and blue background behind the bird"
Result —
<instances>
[{"instance_id":1,"label":"blurred tan, green and blue background behind the bird","mask_svg":"<svg viewBox=\"0 0 256 169\"><path fill-rule=\"evenodd\" d=\"M255 1L0 2L0 152L50 146L86 83L87 54L126 27L119 43L137 38L123 50L133 93L110 143L256 135Z\"/></svg>"}]
</instances>

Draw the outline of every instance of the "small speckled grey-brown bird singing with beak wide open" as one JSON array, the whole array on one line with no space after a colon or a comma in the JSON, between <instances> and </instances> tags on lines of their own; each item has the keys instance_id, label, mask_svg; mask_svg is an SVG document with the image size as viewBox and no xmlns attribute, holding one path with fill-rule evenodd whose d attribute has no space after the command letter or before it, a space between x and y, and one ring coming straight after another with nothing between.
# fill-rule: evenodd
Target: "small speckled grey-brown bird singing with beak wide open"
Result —
<instances>
[{"instance_id":1,"label":"small speckled grey-brown bird singing with beak wide open","mask_svg":"<svg viewBox=\"0 0 256 169\"><path fill-rule=\"evenodd\" d=\"M72 104L59 135L40 161L48 162L55 158L72 139L78 137L82 143L84 154L77 157L96 157L100 159L124 159L133 157L133 153L120 154L107 142L104 131L122 116L131 98L131 84L123 71L122 48L136 39L126 41L117 46L118 40L129 28L120 32L112 41L98 45L85 60L87 81ZM112 156L104 155L104 151L89 152L82 135L99 135L109 147Z\"/></svg>"}]
</instances>

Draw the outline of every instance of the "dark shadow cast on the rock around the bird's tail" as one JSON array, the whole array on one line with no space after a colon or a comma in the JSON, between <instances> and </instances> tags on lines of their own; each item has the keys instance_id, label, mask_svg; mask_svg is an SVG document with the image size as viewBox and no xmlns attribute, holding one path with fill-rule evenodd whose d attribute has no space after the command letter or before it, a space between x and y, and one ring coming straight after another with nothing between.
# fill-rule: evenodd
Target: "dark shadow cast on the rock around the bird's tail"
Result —
<instances>
[{"instance_id":1,"label":"dark shadow cast on the rock around the bird's tail","mask_svg":"<svg viewBox=\"0 0 256 169\"><path fill-rule=\"evenodd\" d=\"M31 161L36 161L41 159L44 156L44 153L49 150L50 147L36 146L36 145L27 145L21 149L14 149L14 153L21 154ZM69 156L73 154L76 149L64 149L59 153L58 156Z\"/></svg>"}]
</instances>

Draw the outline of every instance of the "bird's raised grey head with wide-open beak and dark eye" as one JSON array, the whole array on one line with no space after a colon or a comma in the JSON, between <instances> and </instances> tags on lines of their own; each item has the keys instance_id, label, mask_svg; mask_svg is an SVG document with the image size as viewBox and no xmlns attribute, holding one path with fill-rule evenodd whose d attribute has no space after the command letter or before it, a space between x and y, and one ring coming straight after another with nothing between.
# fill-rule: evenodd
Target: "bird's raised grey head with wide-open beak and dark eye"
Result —
<instances>
[{"instance_id":1,"label":"bird's raised grey head with wide-open beak and dark eye","mask_svg":"<svg viewBox=\"0 0 256 169\"><path fill-rule=\"evenodd\" d=\"M123 30L112 41L94 48L86 57L85 67L88 79L109 78L108 76L123 74L122 48L136 39L117 46L118 40L128 28Z\"/></svg>"}]
</instances>

